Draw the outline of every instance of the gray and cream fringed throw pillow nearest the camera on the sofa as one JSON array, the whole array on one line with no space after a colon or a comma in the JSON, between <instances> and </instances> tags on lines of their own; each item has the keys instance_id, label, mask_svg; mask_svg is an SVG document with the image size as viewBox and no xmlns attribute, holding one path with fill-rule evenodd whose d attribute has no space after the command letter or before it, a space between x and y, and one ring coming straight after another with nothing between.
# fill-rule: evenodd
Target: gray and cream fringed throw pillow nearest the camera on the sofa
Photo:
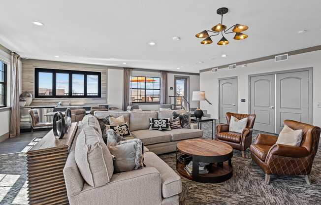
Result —
<instances>
[{"instance_id":1,"label":"gray and cream fringed throw pillow nearest the camera on the sofa","mask_svg":"<svg viewBox=\"0 0 321 205\"><path fill-rule=\"evenodd\" d=\"M143 167L142 142L140 139L120 141L115 146L108 146L114 156L114 172L138 170Z\"/></svg>"}]
</instances>

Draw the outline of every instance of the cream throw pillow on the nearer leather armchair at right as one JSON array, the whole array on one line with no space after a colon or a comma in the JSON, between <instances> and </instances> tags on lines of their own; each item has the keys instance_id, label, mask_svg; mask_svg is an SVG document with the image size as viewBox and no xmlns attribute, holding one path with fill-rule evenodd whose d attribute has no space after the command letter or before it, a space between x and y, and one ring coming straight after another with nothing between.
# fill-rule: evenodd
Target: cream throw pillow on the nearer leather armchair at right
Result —
<instances>
[{"instance_id":1,"label":"cream throw pillow on the nearer leather armchair at right","mask_svg":"<svg viewBox=\"0 0 321 205\"><path fill-rule=\"evenodd\" d=\"M302 141L302 130L293 130L289 126L284 125L276 144L285 144L292 146L300 146Z\"/></svg>"}]
</instances>

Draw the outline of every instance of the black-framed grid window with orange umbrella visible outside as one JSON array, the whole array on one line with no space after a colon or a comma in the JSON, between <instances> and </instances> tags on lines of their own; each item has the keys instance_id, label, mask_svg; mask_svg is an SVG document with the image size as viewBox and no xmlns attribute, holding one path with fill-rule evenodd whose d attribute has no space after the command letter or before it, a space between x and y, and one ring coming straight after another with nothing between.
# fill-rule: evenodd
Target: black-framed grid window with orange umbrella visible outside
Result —
<instances>
[{"instance_id":1,"label":"black-framed grid window with orange umbrella visible outside","mask_svg":"<svg viewBox=\"0 0 321 205\"><path fill-rule=\"evenodd\" d=\"M132 103L160 102L160 78L131 76L130 92Z\"/></svg>"}]
</instances>

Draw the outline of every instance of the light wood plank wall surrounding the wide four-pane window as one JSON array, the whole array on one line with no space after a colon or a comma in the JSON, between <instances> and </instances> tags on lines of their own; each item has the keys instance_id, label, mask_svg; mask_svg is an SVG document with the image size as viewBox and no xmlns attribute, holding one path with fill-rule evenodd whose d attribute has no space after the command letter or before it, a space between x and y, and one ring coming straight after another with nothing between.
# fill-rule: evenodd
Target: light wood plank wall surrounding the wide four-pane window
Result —
<instances>
[{"instance_id":1,"label":"light wood plank wall surrounding the wide four-pane window","mask_svg":"<svg viewBox=\"0 0 321 205\"><path fill-rule=\"evenodd\" d=\"M34 98L32 105L52 105L62 101L73 105L107 103L107 69L106 66L65 63L58 61L42 61L33 59L22 60L22 91L28 91L34 97L34 68L55 68L68 70L101 72L101 98Z\"/></svg>"}]
</instances>

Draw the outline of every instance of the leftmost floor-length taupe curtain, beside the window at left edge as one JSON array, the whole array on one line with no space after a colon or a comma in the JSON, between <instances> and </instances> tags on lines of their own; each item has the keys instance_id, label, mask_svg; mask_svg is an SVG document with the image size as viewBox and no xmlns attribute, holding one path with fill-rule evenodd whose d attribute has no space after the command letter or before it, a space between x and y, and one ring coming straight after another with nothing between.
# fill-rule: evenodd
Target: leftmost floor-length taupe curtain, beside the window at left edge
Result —
<instances>
[{"instance_id":1,"label":"leftmost floor-length taupe curtain, beside the window at left edge","mask_svg":"<svg viewBox=\"0 0 321 205\"><path fill-rule=\"evenodd\" d=\"M11 118L10 137L20 135L20 110L19 110L19 61L20 56L11 52Z\"/></svg>"}]
</instances>

